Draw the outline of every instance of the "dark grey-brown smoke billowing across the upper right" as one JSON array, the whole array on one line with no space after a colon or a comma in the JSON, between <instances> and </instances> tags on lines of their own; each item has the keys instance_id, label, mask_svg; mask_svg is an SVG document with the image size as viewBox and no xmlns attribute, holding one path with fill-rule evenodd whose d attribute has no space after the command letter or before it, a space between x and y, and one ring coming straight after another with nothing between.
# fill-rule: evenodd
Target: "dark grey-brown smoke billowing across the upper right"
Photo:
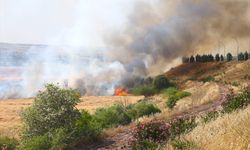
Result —
<instances>
[{"instance_id":1,"label":"dark grey-brown smoke billowing across the upper right","mask_svg":"<svg viewBox=\"0 0 250 150\"><path fill-rule=\"evenodd\" d=\"M106 38L110 56L131 74L147 76L166 71L179 57L211 52L218 41L229 45L238 39L247 45L249 7L248 1L229 0L138 3L128 27Z\"/></svg>"}]
</instances>

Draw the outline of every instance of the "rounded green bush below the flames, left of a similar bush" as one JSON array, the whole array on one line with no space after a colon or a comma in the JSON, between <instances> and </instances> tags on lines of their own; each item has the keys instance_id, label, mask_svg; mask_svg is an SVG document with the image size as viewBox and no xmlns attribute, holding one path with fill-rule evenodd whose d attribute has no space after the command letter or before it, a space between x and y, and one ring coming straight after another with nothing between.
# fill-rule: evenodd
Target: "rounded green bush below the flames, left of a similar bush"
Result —
<instances>
[{"instance_id":1,"label":"rounded green bush below the flames, left of a similar bush","mask_svg":"<svg viewBox=\"0 0 250 150\"><path fill-rule=\"evenodd\" d=\"M122 105L114 105L109 108L100 108L95 112L96 120L103 128L126 125L131 122L131 118Z\"/></svg>"}]
</instances>

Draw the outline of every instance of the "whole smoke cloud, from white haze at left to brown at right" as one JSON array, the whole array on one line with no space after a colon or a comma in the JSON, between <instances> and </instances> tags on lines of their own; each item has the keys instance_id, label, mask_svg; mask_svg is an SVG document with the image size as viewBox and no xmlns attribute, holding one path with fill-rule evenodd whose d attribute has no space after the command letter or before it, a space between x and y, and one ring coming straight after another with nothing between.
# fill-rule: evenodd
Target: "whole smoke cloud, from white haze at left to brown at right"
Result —
<instances>
[{"instance_id":1,"label":"whole smoke cloud, from white haze at left to brown at right","mask_svg":"<svg viewBox=\"0 0 250 150\"><path fill-rule=\"evenodd\" d=\"M15 90L12 86L0 85L1 88L6 87L4 92L0 92L0 97L8 98L8 93L32 96L47 82L78 88L83 95L107 95L112 94L118 85L127 85L138 77L166 71L178 64L182 56L197 52L223 53L221 45L235 53L237 40L242 51L248 49L250 2L247 0L140 0L129 4L115 3L126 4L121 8L129 10L121 16L113 14L122 14L120 7L114 7L113 12L107 11L108 7L113 6L111 1L100 3L103 5L98 2L90 4L95 8L91 7L91 11L100 10L96 20L105 23L118 18L116 26L108 25L103 29L102 24L95 20L95 14L86 18L86 21L95 24L94 27L91 24L86 26L82 18L85 2L76 1L75 5L70 5L75 9L75 15L70 13L69 17L75 18L74 25L63 27L66 28L63 33L56 32L52 35L54 38L46 39L49 43L60 45L65 42L71 46L47 46L35 55L31 54L36 47L30 48L25 52L28 57L22 65L20 88ZM107 10L102 13L101 7L105 5ZM108 19L110 15L112 17ZM86 40L84 33L88 29L97 31L93 36L92 32L88 33L91 36ZM95 43L101 44L95 47Z\"/></svg>"}]
</instances>

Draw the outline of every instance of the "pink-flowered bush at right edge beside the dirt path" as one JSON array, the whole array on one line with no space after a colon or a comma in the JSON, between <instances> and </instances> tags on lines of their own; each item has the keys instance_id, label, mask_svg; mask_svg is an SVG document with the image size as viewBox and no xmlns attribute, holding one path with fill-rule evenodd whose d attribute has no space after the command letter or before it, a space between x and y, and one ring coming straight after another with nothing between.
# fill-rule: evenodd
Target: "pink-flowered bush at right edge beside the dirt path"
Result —
<instances>
[{"instance_id":1,"label":"pink-flowered bush at right edge beside the dirt path","mask_svg":"<svg viewBox=\"0 0 250 150\"><path fill-rule=\"evenodd\" d=\"M230 113L250 104L250 90L245 89L241 94L227 96L227 100L222 104L223 112Z\"/></svg>"}]
</instances>

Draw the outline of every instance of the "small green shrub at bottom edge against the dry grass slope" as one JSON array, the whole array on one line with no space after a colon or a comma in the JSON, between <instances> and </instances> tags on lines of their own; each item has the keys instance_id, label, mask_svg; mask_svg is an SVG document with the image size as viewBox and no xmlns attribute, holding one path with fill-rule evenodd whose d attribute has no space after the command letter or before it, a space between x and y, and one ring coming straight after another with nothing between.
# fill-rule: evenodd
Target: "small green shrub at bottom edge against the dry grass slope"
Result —
<instances>
[{"instance_id":1,"label":"small green shrub at bottom edge against the dry grass slope","mask_svg":"<svg viewBox=\"0 0 250 150\"><path fill-rule=\"evenodd\" d=\"M186 139L174 139L171 142L171 145L175 150L191 150L196 149L196 146L193 142L188 141Z\"/></svg>"}]
</instances>

